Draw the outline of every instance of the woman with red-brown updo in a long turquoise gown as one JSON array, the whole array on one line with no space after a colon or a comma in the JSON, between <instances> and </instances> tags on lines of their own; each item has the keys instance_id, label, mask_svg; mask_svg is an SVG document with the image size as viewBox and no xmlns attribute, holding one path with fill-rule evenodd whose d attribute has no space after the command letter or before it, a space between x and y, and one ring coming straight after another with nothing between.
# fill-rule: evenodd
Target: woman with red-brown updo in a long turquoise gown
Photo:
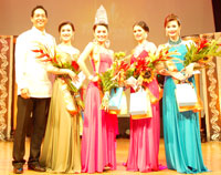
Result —
<instances>
[{"instance_id":1,"label":"woman with red-brown updo in a long turquoise gown","mask_svg":"<svg viewBox=\"0 0 221 175\"><path fill-rule=\"evenodd\" d=\"M166 75L162 97L165 151L169 169L193 174L208 172L208 169L202 158L199 115L192 111L179 112L175 95L176 83L188 80L194 84L192 74L194 63L183 66L187 47L192 41L180 39L180 28L178 17L169 14L165 19L166 35L169 41L159 45L159 51L169 47L169 52L179 53L172 55L176 59L167 62L167 69L160 71Z\"/></svg>"}]
</instances>

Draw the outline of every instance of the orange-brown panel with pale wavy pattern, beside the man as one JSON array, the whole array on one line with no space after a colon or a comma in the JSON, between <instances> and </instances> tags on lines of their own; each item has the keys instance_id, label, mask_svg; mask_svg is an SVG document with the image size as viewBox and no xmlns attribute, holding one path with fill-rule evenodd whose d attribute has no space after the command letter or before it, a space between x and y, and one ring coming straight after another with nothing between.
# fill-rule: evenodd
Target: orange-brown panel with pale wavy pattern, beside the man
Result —
<instances>
[{"instance_id":1,"label":"orange-brown panel with pale wavy pattern, beside the man","mask_svg":"<svg viewBox=\"0 0 221 175\"><path fill-rule=\"evenodd\" d=\"M13 37L0 35L0 140L11 133L13 81Z\"/></svg>"}]
</instances>

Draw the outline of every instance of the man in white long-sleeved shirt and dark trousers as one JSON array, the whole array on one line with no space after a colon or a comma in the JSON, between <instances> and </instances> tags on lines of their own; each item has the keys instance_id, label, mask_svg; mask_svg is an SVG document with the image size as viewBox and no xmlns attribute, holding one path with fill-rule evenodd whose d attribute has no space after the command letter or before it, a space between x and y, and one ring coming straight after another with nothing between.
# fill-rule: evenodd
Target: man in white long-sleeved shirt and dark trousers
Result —
<instances>
[{"instance_id":1,"label":"man in white long-sleeved shirt and dark trousers","mask_svg":"<svg viewBox=\"0 0 221 175\"><path fill-rule=\"evenodd\" d=\"M33 133L31 134L28 168L44 172L39 164L41 143L44 136L50 99L52 95L52 74L46 71L46 62L36 59L33 52L38 42L50 48L55 47L55 40L45 32L48 12L42 6L32 10L33 27L20 34L15 44L15 80L18 84L17 130L13 142L13 172L23 173L25 163L25 135L28 119L32 113Z\"/></svg>"}]
</instances>

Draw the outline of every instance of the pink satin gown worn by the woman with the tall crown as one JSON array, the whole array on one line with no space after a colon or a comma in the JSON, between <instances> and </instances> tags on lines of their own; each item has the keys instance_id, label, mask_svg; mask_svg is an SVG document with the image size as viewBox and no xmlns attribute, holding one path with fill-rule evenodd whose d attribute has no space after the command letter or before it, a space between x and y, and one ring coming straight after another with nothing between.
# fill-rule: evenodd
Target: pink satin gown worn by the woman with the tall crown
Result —
<instances>
[{"instance_id":1,"label":"pink satin gown worn by the woman with the tall crown","mask_svg":"<svg viewBox=\"0 0 221 175\"><path fill-rule=\"evenodd\" d=\"M113 61L109 54L101 53L98 72L105 72ZM95 64L92 60L93 70ZM90 82L85 99L82 136L82 172L103 172L105 166L116 169L117 115L101 110L98 82Z\"/></svg>"}]
</instances>

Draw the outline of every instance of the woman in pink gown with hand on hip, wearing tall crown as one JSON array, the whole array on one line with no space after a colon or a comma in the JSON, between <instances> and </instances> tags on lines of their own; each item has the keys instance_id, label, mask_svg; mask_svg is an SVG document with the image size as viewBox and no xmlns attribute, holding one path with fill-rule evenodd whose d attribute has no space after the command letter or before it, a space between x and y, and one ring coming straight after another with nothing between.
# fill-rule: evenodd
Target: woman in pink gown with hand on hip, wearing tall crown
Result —
<instances>
[{"instance_id":1,"label":"woman in pink gown with hand on hip, wearing tall crown","mask_svg":"<svg viewBox=\"0 0 221 175\"><path fill-rule=\"evenodd\" d=\"M106 167L116 169L115 128L116 115L101 110L102 91L97 74L113 63L114 52L106 47L107 23L94 24L94 42L90 42L80 55L78 64L87 75L84 126L82 136L82 172L103 172ZM85 61L90 58L93 73ZM110 116L113 121L110 120Z\"/></svg>"}]
</instances>

